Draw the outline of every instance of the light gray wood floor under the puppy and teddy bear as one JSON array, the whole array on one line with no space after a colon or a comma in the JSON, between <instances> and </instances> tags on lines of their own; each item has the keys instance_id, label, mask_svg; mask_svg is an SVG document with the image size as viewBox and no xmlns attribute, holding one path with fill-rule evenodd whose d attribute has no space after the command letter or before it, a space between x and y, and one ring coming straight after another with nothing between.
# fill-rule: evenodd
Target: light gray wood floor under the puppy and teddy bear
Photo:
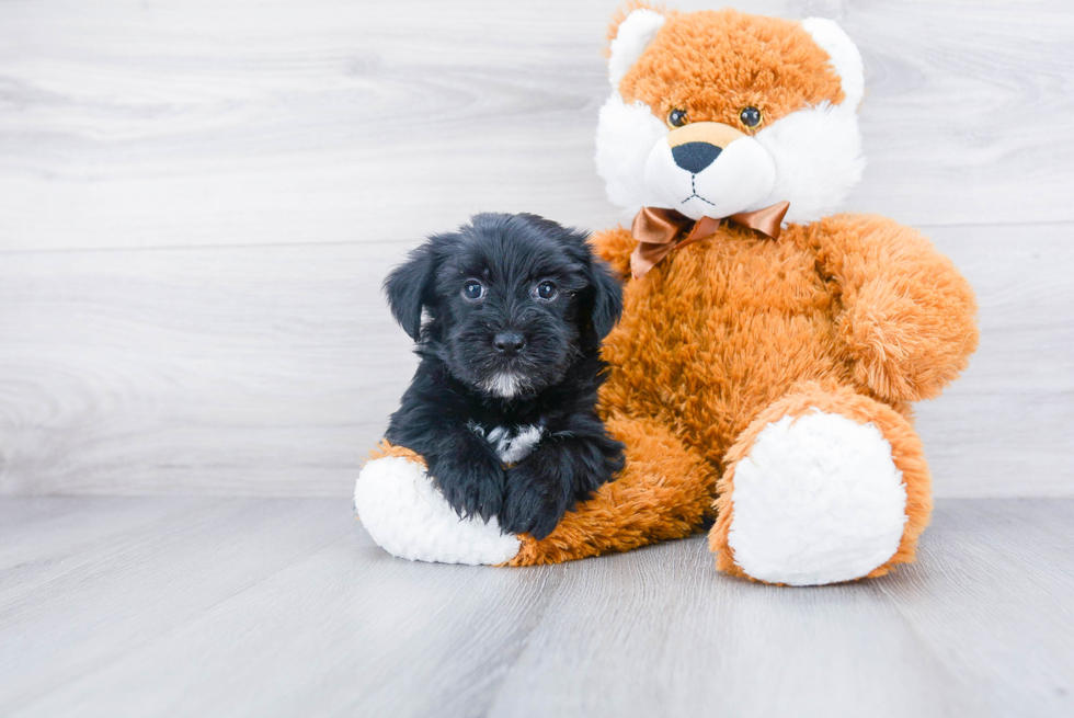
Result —
<instances>
[{"instance_id":1,"label":"light gray wood floor under the puppy and teddy bear","mask_svg":"<svg viewBox=\"0 0 1074 718\"><path fill-rule=\"evenodd\" d=\"M1070 716L1074 500L949 499L919 563L778 589L704 537L411 563L338 499L0 500L4 716Z\"/></svg>"}]
</instances>

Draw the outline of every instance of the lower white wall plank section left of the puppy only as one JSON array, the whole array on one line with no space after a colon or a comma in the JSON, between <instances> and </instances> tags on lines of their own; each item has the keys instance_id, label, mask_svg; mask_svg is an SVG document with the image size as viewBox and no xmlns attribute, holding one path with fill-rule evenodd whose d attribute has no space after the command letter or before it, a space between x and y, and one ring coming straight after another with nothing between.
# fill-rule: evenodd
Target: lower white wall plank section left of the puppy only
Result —
<instances>
[{"instance_id":1,"label":"lower white wall plank section left of the puppy only","mask_svg":"<svg viewBox=\"0 0 1074 718\"><path fill-rule=\"evenodd\" d=\"M0 486L344 495L413 364L388 253L11 255Z\"/></svg>"}]
</instances>

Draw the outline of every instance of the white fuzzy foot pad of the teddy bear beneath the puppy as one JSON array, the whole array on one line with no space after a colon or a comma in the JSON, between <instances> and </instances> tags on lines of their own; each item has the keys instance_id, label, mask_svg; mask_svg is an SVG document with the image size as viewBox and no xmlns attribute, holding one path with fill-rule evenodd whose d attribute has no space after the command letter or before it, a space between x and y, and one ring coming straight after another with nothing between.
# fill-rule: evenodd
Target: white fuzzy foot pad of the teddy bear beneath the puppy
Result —
<instances>
[{"instance_id":1,"label":"white fuzzy foot pad of the teddy bear beneath the puppy","mask_svg":"<svg viewBox=\"0 0 1074 718\"><path fill-rule=\"evenodd\" d=\"M354 487L354 506L373 540L400 558L439 563L503 563L521 542L495 518L460 520L420 463L373 459Z\"/></svg>"}]
</instances>

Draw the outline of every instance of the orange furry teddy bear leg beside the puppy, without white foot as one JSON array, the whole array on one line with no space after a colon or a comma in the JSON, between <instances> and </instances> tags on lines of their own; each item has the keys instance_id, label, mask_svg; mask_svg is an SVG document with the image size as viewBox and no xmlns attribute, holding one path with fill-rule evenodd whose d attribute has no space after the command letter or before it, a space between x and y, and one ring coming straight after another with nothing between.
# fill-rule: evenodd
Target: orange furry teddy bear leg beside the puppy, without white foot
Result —
<instances>
[{"instance_id":1,"label":"orange furry teddy bear leg beside the puppy, without white foot","mask_svg":"<svg viewBox=\"0 0 1074 718\"><path fill-rule=\"evenodd\" d=\"M512 566L558 563L684 538L715 515L716 475L705 458L651 420L613 417L606 426L627 446L626 467L568 512L546 538L525 537Z\"/></svg>"}]
</instances>

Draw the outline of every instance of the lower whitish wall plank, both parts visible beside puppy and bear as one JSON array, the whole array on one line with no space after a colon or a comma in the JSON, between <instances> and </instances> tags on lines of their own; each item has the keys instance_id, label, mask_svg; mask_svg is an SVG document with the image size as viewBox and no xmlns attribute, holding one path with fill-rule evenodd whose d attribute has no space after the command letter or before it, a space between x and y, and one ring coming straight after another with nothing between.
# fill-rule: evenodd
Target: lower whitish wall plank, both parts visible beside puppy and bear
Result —
<instances>
[{"instance_id":1,"label":"lower whitish wall plank, both parts visible beside puppy and bear","mask_svg":"<svg viewBox=\"0 0 1074 718\"><path fill-rule=\"evenodd\" d=\"M982 324L919 404L939 495L1074 493L1072 230L929 230ZM0 493L349 495L414 366L379 296L399 251L8 255Z\"/></svg>"}]
</instances>

